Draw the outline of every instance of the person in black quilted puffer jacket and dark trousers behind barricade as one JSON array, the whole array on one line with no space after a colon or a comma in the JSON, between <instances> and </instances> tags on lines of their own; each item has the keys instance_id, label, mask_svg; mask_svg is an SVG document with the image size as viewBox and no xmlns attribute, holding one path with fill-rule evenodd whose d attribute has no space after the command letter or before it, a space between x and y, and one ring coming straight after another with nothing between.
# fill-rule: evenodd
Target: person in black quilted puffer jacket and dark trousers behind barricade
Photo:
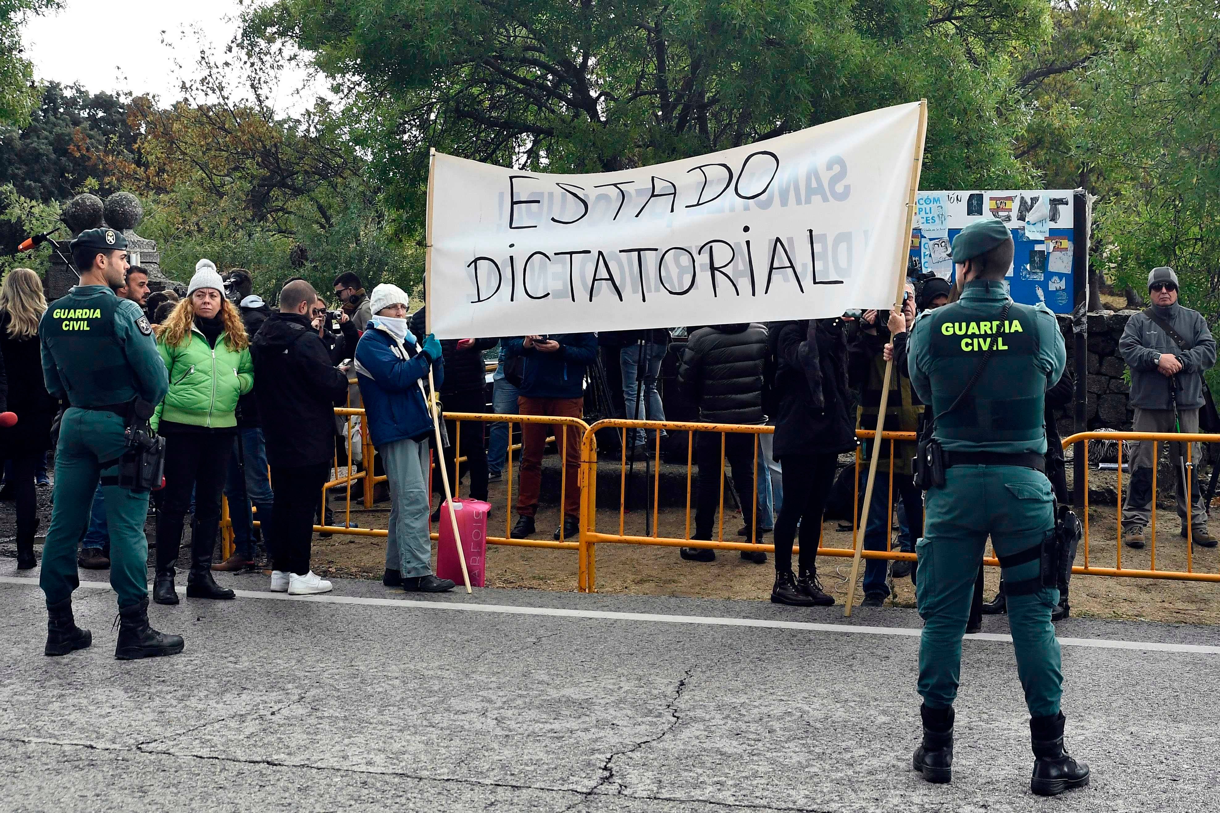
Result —
<instances>
[{"instance_id":1,"label":"person in black quilted puffer jacket and dark trousers behind barricade","mask_svg":"<svg viewBox=\"0 0 1220 813\"><path fill-rule=\"evenodd\" d=\"M767 333L761 324L715 324L691 334L682 350L678 389L699 405L704 423L744 423L759 425L762 414L762 371L766 366ZM754 434L723 433L725 457L733 469L733 486L748 529L756 513ZM711 540L721 495L721 434L700 431L695 442L699 462L698 502L694 538ZM761 467L759 467L761 468ZM723 535L723 528L721 528ZM762 531L753 538L758 539ZM716 552L682 549L682 558L711 562ZM742 558L761 564L766 553L742 551Z\"/></svg>"}]
</instances>

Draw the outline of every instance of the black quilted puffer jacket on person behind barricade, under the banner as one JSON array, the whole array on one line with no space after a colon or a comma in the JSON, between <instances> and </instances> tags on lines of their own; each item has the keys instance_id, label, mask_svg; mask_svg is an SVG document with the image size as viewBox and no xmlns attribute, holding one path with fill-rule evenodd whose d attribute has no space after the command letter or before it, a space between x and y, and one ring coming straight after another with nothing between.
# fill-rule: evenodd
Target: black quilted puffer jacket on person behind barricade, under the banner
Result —
<instances>
[{"instance_id":1,"label":"black quilted puffer jacket on person behind barricade, under the banner","mask_svg":"<svg viewBox=\"0 0 1220 813\"><path fill-rule=\"evenodd\" d=\"M691 334L682 350L678 388L708 423L762 423L766 327L715 324Z\"/></svg>"}]
</instances>

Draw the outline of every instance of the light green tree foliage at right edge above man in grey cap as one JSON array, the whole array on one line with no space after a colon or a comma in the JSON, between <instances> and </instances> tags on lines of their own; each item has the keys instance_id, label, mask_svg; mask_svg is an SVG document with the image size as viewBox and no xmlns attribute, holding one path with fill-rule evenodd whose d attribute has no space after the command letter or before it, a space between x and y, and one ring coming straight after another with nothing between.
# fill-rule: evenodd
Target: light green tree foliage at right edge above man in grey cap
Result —
<instances>
[{"instance_id":1,"label":"light green tree foliage at right edge above man in grey cap","mask_svg":"<svg viewBox=\"0 0 1220 813\"><path fill-rule=\"evenodd\" d=\"M1139 0L1130 44L1088 74L1082 152L1103 178L1098 223L1120 285L1174 266L1183 297L1220 317L1220 18L1208 0Z\"/></svg>"}]
</instances>

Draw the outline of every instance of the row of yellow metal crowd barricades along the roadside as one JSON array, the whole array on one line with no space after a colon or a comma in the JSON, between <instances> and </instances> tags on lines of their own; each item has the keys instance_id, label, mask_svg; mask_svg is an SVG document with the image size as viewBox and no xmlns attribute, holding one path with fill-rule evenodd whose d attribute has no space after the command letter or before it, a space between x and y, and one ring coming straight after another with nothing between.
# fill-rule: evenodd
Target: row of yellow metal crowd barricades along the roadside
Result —
<instances>
[{"instance_id":1,"label":"row of yellow metal crowd barricades along the roadside","mask_svg":"<svg viewBox=\"0 0 1220 813\"><path fill-rule=\"evenodd\" d=\"M364 410L340 407L336 411L337 416L346 418L346 430L348 438L351 438L351 423L353 418L364 416ZM766 466L762 461L762 455L760 451L759 436L765 434L772 434L772 427L764 425L742 425L742 424L709 424L709 423L681 423L681 422L655 422L655 421L622 421L622 419L610 419L599 421L593 425L587 424L580 418L565 418L565 417L551 417L551 416L520 416L520 414L479 414L479 413L445 413L447 421L453 422L451 428L455 431L451 433L450 442L453 444L454 457L456 460L458 470L461 470L462 463L467 462L467 456L462 455L461 440L462 431L461 427L466 422L478 422L481 424L487 423L505 423L509 429L509 451L508 461L505 466L505 494L503 502L499 502L493 507L493 511L503 511L504 518L504 535L492 536L489 535L487 541L493 545L509 545L518 547L539 547L539 549L551 549L551 550L570 550L577 551L578 563L577 563L577 589L582 592L595 592L597 591L597 545L599 544L622 544L622 545L655 545L661 547L693 547L704 550L722 550L722 551L765 551L773 553L775 546L772 544L759 542L759 528L758 528L758 512L754 512L753 527L749 529L748 539L744 541L730 541L725 539L725 500L727 495L726 490L726 450L728 445L728 435L750 435L753 444L753 462L754 462L754 479L753 479L753 494L758 494L758 478L770 477ZM547 444L556 444L556 452L560 460L559 467L559 516L560 516L560 539L511 539L512 519L515 514L515 502L514 494L518 489L518 483L516 481L516 472L514 467L514 455L521 451L521 442L514 442L514 425L526 425L526 424L547 424L556 429L556 431L547 438ZM562 430L560 430L562 429ZM673 527L673 519L670 518L671 528L667 533L661 533L658 524L654 524L648 534L633 534L628 533L626 524L626 514L628 512L628 469L630 463L627 458L627 449L631 446L627 442L627 431L632 429L644 429L649 434L649 445L654 447L655 458L658 464L654 466L655 470L651 474L651 479L647 483L647 501L651 508L653 517L658 517L661 513L661 466L659 461L661 460L661 431L670 433L689 433L687 449L686 449L686 495L684 495L684 516L682 518L682 530L678 531L677 527ZM604 461L599 464L598 450L597 450L597 433L599 430L616 430L622 440L621 449L617 460ZM716 524L719 525L719 533L712 540L697 540L692 539L692 507L694 505L694 473L698 470L695 466L695 433L716 433L720 434L720 480L719 480L719 505L717 505L717 517ZM876 433L867 430L856 431L858 439L863 441L871 440ZM894 473L893 473L893 461L895 457L895 444L900 441L913 441L915 440L915 433L902 433L902 431L882 431L881 441L889 444L889 467L882 468L877 472L878 479L875 488L884 488L887 491L886 503L888 511L886 513L887 518L893 516L893 507L895 500L894 489ZM1064 439L1064 449L1070 449L1072 445L1077 445L1076 453L1085 455L1086 461L1088 460L1089 441L1108 440L1108 441L1124 441L1124 440L1137 440L1153 442L1155 445L1154 456L1159 456L1159 451L1166 442L1185 442L1185 461L1187 466L1193 466L1193 450L1191 442L1220 442L1220 435L1210 434L1176 434L1176 433L1081 433L1071 435ZM572 442L580 444L580 455L576 461L570 462L571 455L569 445ZM326 489L340 488L344 492L344 506L343 516L344 524L350 524L353 507L351 507L351 491L353 486L359 483L362 488L364 496L364 509L375 509L375 488L386 481L386 475L375 474L375 461L376 450L368 438L367 425L361 419L361 450L362 450L362 470L356 470L353 464L353 449L351 444L348 444L348 460L345 472L342 477L336 477L336 479L326 484ZM1124 450L1122 444L1119 442L1118 452L1118 473L1116 473L1116 494L1118 505L1115 506L1115 530L1113 534L1113 540L1109 539L1109 534L1105 538L1097 536L1097 524L1096 519L1091 525L1091 512L1089 512L1089 468L1085 467L1083 478L1083 492L1085 492L1085 505L1082 507L1082 523L1083 523L1083 539L1081 540L1081 549L1077 553L1076 566L1072 568L1075 574L1081 575L1107 575L1107 577L1136 577L1136 578L1152 578L1152 579L1181 579L1192 581L1220 581L1220 551L1196 551L1191 544L1191 534L1193 533L1192 523L1190 522L1190 513L1193 511L1193 495L1192 490L1196 488L1193 484L1193 478L1186 478L1186 494L1187 494L1187 539L1183 540L1185 552L1176 545L1166 552L1165 542L1160 542L1160 550L1158 551L1158 539L1157 539L1157 467L1153 467L1152 473L1152 490L1153 490L1153 503L1152 503L1152 520L1149 523L1149 547L1147 550L1124 550L1122 544L1122 529L1121 529L1121 506L1124 500ZM439 460L434 458L436 461ZM338 458L336 463L336 473L343 468L340 467ZM860 516L860 470L861 467L866 466L866 461L863 460L861 453L858 449L855 456L855 477L854 477L854 497L853 497L853 519L852 519L852 540L853 544L856 539L856 534L861 533L859 525ZM566 539L562 534L562 516L564 516L564 502L567 496L569 478L566 477L569 467L577 466L577 478L576 483L581 489L580 500L580 534L577 539ZM597 484L599 466L606 468L617 468L614 472L619 483L619 511L617 522L615 528L599 528L598 520L598 496L597 496ZM454 478L453 483L454 497L460 499L462 495L461 479ZM743 489L750 491L750 489ZM323 497L326 491L323 491ZM548 501L550 502L550 501ZM233 551L233 533L232 533L232 518L228 512L227 501L222 505L222 546L224 556L229 556ZM493 523L499 523L499 517L493 519ZM259 523L255 522L257 525ZM897 550L893 545L893 530L889 528L889 522L887 525L887 544L886 550L861 552L864 558L880 558L880 559L906 559L914 561L914 553L905 553ZM381 529L371 528L344 528L338 525L315 525L315 531L328 531L333 534L348 534L357 536L386 536L387 531ZM490 528L489 528L490 531ZM919 529L913 529L913 535L920 535ZM681 533L681 536L678 535ZM1091 536L1092 534L1092 536ZM437 539L438 534L433 533L432 539ZM1109 551L1110 544L1113 541L1113 555ZM799 552L799 546L793 547L793 552ZM852 557L852 547L826 547L824 544L819 545L819 556L831 556L831 557ZM1158 566L1158 555L1160 555L1160 564ZM1099 562L1098 557L1102 556L1103 561ZM1113 556L1113 558L1111 558ZM1203 562L1200 562L1200 557ZM1174 562L1181 562L1181 564L1170 563L1166 567L1166 559L1172 559ZM998 562L994 557L987 557L983 559L985 563L991 566L997 566ZM1113 564L1113 567L1111 567Z\"/></svg>"}]
</instances>

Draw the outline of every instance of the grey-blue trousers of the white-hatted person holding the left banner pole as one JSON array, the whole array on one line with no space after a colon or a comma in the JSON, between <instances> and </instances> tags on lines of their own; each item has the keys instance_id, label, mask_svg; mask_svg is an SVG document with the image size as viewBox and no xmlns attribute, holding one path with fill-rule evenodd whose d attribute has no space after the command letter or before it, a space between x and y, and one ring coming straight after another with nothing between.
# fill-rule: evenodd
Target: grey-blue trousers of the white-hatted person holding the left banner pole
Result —
<instances>
[{"instance_id":1,"label":"grey-blue trousers of the white-hatted person holding the left banner pole","mask_svg":"<svg viewBox=\"0 0 1220 813\"><path fill-rule=\"evenodd\" d=\"M428 529L428 441L410 438L377 447L389 479L389 533L386 569L404 579L432 573L432 536Z\"/></svg>"}]
</instances>

